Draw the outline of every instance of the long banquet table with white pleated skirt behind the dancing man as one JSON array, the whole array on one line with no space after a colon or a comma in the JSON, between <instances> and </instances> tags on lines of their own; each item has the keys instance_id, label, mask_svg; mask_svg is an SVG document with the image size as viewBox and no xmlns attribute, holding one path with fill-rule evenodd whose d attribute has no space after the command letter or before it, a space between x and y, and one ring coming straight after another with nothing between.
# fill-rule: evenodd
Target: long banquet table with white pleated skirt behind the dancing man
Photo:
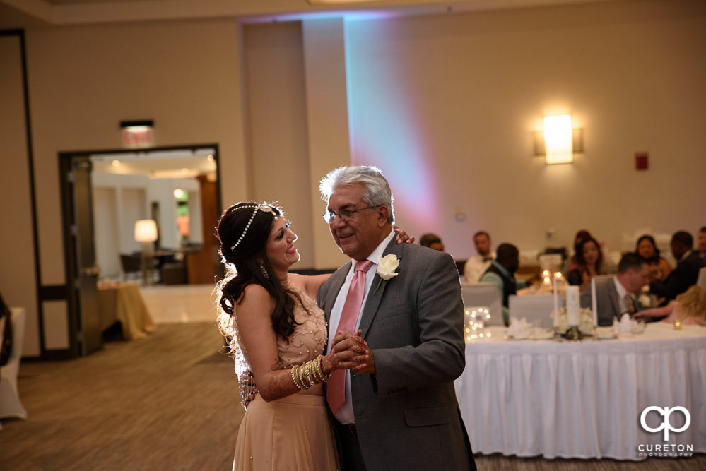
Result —
<instances>
[{"instance_id":1,"label":"long banquet table with white pleated skirt behind the dancing man","mask_svg":"<svg viewBox=\"0 0 706 471\"><path fill-rule=\"evenodd\" d=\"M512 340L486 328L466 343L455 381L474 453L641 460L649 453L706 452L706 328L649 323L613 340ZM686 407L681 432L650 433L649 406ZM686 415L673 412L673 429ZM645 424L666 420L648 412ZM689 451L688 446L693 450ZM654 454L652 454L654 455Z\"/></svg>"}]
</instances>

